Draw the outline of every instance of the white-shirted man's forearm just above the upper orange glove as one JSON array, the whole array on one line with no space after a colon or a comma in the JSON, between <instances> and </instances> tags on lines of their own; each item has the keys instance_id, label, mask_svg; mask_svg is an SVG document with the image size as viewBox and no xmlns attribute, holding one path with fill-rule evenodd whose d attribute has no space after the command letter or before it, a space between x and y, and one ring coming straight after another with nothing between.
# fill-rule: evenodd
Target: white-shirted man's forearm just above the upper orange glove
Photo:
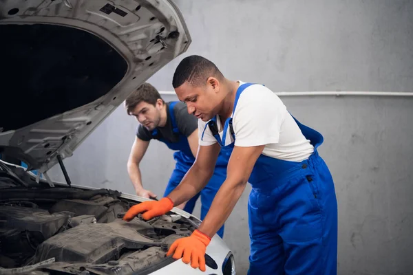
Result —
<instances>
[{"instance_id":1,"label":"white-shirted man's forearm just above the upper orange glove","mask_svg":"<svg viewBox=\"0 0 413 275\"><path fill-rule=\"evenodd\" d=\"M189 201L207 185L212 175L213 171L198 168L194 164L183 177L180 184L168 195L169 199L173 201L174 206Z\"/></svg>"}]
</instances>

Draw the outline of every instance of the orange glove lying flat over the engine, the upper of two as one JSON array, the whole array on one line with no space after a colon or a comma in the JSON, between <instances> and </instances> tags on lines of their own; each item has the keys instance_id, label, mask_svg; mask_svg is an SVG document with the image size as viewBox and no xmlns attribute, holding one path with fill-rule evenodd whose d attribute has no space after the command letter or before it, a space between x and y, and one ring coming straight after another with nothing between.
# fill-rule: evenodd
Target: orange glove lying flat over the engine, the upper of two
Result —
<instances>
[{"instance_id":1,"label":"orange glove lying flat over the engine, the upper of two","mask_svg":"<svg viewBox=\"0 0 413 275\"><path fill-rule=\"evenodd\" d=\"M131 221L136 215L145 211L147 212L145 212L145 214L142 214L142 218L149 220L153 217L167 213L172 208L173 201L169 199L169 197L164 197L159 201L144 201L129 208L125 216L123 216L123 220Z\"/></svg>"}]
</instances>

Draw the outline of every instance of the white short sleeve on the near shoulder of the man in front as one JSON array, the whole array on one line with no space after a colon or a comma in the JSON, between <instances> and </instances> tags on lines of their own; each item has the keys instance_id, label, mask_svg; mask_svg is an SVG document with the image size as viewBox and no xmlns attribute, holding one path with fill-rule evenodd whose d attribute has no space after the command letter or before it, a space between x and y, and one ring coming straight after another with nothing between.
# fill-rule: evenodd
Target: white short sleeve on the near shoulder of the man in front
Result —
<instances>
[{"instance_id":1,"label":"white short sleeve on the near shoulder of the man in front","mask_svg":"<svg viewBox=\"0 0 413 275\"><path fill-rule=\"evenodd\" d=\"M235 108L235 146L260 146L279 142L286 107L276 94L262 85L246 88Z\"/></svg>"}]
</instances>

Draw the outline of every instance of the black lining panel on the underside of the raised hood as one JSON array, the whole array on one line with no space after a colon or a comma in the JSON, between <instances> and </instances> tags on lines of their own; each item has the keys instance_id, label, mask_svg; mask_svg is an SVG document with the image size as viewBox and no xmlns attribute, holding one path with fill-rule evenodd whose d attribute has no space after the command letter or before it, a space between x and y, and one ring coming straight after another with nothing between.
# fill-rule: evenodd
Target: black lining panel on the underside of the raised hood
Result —
<instances>
[{"instance_id":1,"label":"black lining panel on the underside of the raised hood","mask_svg":"<svg viewBox=\"0 0 413 275\"><path fill-rule=\"evenodd\" d=\"M21 129L104 96L127 72L125 59L94 34L59 25L0 25L3 131Z\"/></svg>"}]
</instances>

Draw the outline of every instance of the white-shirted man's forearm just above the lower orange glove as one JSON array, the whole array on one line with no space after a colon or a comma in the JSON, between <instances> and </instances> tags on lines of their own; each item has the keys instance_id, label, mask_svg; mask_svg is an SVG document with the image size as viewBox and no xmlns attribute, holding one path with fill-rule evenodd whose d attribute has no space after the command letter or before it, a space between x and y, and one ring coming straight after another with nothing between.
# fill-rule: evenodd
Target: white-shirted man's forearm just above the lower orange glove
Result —
<instances>
[{"instance_id":1,"label":"white-shirted man's forearm just above the lower orange glove","mask_svg":"<svg viewBox=\"0 0 413 275\"><path fill-rule=\"evenodd\" d=\"M226 219L228 219L242 192L244 192L245 186L246 181L234 183L226 179L215 195L211 208L209 208L207 216L198 230L212 238L220 230Z\"/></svg>"}]
</instances>

